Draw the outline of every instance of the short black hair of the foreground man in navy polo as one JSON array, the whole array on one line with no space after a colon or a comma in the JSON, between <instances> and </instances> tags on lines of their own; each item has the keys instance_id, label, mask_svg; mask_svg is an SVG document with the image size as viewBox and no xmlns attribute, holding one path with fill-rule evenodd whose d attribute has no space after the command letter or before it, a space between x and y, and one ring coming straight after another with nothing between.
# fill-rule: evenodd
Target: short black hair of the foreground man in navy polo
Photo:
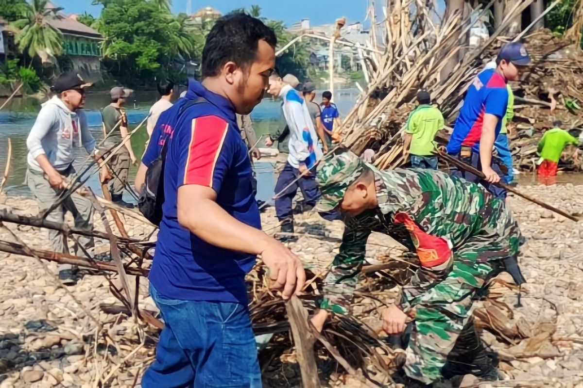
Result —
<instances>
[{"instance_id":1,"label":"short black hair of the foreground man in navy polo","mask_svg":"<svg viewBox=\"0 0 583 388\"><path fill-rule=\"evenodd\" d=\"M240 67L249 65L257 56L259 40L265 40L273 48L278 44L273 29L255 17L241 12L221 17L207 35L202 49L202 78L215 77L229 61Z\"/></svg>"}]
</instances>

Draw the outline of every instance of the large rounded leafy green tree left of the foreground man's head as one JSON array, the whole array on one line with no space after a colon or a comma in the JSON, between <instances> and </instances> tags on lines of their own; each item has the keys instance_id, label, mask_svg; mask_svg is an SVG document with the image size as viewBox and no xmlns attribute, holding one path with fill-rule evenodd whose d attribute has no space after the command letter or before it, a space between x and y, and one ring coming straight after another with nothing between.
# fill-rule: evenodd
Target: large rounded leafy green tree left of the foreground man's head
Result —
<instances>
[{"instance_id":1,"label":"large rounded leafy green tree left of the foreground man's head","mask_svg":"<svg viewBox=\"0 0 583 388\"><path fill-rule=\"evenodd\" d=\"M185 27L185 16L173 17L156 1L102 0L100 22L104 65L128 84L167 76L173 59L195 56L196 38Z\"/></svg>"}]
</instances>

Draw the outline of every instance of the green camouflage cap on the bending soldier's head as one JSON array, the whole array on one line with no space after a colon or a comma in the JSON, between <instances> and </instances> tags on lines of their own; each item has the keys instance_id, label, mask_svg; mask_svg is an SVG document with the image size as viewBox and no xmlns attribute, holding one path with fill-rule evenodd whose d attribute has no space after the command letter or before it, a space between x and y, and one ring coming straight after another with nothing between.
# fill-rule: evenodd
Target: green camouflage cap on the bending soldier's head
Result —
<instances>
[{"instance_id":1,"label":"green camouflage cap on the bending soldier's head","mask_svg":"<svg viewBox=\"0 0 583 388\"><path fill-rule=\"evenodd\" d=\"M363 167L363 161L351 151L326 156L319 163L316 173L321 193L316 210L330 212L335 209L342 201L346 189L360 176Z\"/></svg>"}]
</instances>

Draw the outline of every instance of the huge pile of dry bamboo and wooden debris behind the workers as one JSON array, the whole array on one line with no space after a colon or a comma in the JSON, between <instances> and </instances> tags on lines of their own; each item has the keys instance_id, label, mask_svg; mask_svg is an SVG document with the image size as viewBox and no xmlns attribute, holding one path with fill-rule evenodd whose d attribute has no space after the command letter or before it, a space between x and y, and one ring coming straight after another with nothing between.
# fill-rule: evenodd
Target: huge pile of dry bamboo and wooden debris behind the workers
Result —
<instances>
[{"instance_id":1,"label":"huge pile of dry bamboo and wooden debris behind the workers","mask_svg":"<svg viewBox=\"0 0 583 388\"><path fill-rule=\"evenodd\" d=\"M549 30L503 36L508 24L531 2L515 2L490 39L480 47L468 49L459 44L459 37L468 32L471 20L479 19L474 16L489 12L492 3L475 9L474 16L466 19L454 12L436 26L428 17L433 12L430 7L409 13L411 2L390 0L388 9L392 14L385 20L385 52L368 54L371 60L367 63L371 65L366 71L371 82L343 123L342 144L357 154L374 148L381 168L400 165L404 162L400 135L414 108L416 92L429 90L446 123L453 127L473 77L496 58L503 44L524 40L533 65L520 83L511 84L516 95L516 130L511 145L517 166L532 169L536 144L554 120L561 119L568 129L583 125L578 121L579 106L583 108L583 56L573 38L557 38ZM556 2L549 7L554 5ZM569 156L562 166L578 170L581 162Z\"/></svg>"}]
</instances>

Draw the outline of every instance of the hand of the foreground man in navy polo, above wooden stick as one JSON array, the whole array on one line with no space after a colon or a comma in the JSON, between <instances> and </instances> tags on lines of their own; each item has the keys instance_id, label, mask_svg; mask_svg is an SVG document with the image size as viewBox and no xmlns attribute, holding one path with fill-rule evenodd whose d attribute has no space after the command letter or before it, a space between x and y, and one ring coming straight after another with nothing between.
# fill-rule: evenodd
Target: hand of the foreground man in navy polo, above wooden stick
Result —
<instances>
[{"instance_id":1,"label":"hand of the foreground man in navy polo, above wooden stick","mask_svg":"<svg viewBox=\"0 0 583 388\"><path fill-rule=\"evenodd\" d=\"M272 288L282 290L282 297L287 300L304 288L304 267L300 258L282 243L270 240L261 252L261 259L268 268L269 278L275 282Z\"/></svg>"}]
</instances>

